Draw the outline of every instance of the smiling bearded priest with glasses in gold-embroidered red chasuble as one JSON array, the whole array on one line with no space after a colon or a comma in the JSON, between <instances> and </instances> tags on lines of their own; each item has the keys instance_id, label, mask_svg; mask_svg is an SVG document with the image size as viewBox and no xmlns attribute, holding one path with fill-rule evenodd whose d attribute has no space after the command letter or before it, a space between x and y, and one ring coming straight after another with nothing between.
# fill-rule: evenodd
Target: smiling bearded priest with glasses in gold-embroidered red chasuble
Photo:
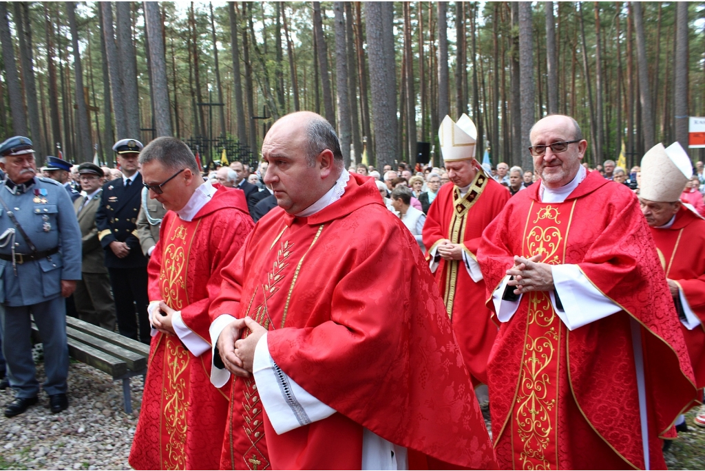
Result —
<instances>
[{"instance_id":1,"label":"smiling bearded priest with glasses in gold-embroidered red chasuble","mask_svg":"<svg viewBox=\"0 0 705 471\"><path fill-rule=\"evenodd\" d=\"M541 177L484 231L477 260L501 327L488 372L504 469L665 469L661 438L695 385L635 194L580 165L575 120L530 134Z\"/></svg>"}]
</instances>

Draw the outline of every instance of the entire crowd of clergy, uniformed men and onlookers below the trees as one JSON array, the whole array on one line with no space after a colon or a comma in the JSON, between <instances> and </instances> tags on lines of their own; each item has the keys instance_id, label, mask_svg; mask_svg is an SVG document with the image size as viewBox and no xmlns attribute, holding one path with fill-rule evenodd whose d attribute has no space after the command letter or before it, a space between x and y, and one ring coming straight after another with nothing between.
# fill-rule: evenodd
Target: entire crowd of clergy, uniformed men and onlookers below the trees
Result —
<instances>
[{"instance_id":1,"label":"entire crowd of clergy, uniformed men and onlookers below the trees","mask_svg":"<svg viewBox=\"0 0 705 471\"><path fill-rule=\"evenodd\" d=\"M30 314L68 407L68 312L150 344L135 469L666 467L705 387L703 165L589 168L565 115L530 137L532 170L480 165L446 116L441 166L345 169L299 112L207 173L173 137L39 173L7 139L6 417L37 403Z\"/></svg>"}]
</instances>

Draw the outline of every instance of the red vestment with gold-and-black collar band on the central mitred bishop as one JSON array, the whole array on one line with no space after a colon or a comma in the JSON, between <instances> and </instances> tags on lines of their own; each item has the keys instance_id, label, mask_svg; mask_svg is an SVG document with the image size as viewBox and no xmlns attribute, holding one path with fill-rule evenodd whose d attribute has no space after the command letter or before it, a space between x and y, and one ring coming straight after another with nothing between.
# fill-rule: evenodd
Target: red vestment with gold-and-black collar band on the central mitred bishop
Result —
<instances>
[{"instance_id":1,"label":"red vestment with gold-and-black collar band on the central mitred bishop","mask_svg":"<svg viewBox=\"0 0 705 471\"><path fill-rule=\"evenodd\" d=\"M467 255L477 260L482 231L502 211L509 197L505 187L482 171L477 172L465 198L460 198L460 189L453 184L443 185L424 223L427 253L442 239L448 239L462 244ZM486 383L487 357L497 326L491 320L491 311L484 307L484 280L472 281L462 260L448 262L443 258L434 275L467 369L475 382Z\"/></svg>"}]
</instances>

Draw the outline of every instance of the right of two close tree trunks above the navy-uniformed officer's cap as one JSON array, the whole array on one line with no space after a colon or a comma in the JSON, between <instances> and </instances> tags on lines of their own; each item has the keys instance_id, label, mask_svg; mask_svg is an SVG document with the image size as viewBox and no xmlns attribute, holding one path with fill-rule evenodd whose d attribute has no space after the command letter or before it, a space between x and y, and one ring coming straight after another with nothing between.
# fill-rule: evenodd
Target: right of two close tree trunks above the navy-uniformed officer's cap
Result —
<instances>
[{"instance_id":1,"label":"right of two close tree trunks above the navy-uniformed officer's cap","mask_svg":"<svg viewBox=\"0 0 705 471\"><path fill-rule=\"evenodd\" d=\"M127 137L140 139L140 96L137 94L137 61L132 39L130 2L115 3L118 65L123 70L123 103ZM113 103L115 104L115 103Z\"/></svg>"}]
</instances>

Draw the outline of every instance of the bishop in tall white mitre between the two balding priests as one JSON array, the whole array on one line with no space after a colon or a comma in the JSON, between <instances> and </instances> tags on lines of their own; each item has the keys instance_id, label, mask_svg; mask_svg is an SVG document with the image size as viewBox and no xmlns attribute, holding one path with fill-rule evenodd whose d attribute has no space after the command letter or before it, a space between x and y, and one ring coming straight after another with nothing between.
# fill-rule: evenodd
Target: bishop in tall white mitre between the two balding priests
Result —
<instances>
[{"instance_id":1,"label":"bishop in tall white mitre between the two balding priests","mask_svg":"<svg viewBox=\"0 0 705 471\"><path fill-rule=\"evenodd\" d=\"M477 247L485 227L502 211L510 194L475 160L477 130L463 114L446 116L439 129L443 163L452 184L439 190L424 224L427 260L453 324L460 352L475 384L487 382L487 357L497 335L484 306L485 284Z\"/></svg>"}]
</instances>

